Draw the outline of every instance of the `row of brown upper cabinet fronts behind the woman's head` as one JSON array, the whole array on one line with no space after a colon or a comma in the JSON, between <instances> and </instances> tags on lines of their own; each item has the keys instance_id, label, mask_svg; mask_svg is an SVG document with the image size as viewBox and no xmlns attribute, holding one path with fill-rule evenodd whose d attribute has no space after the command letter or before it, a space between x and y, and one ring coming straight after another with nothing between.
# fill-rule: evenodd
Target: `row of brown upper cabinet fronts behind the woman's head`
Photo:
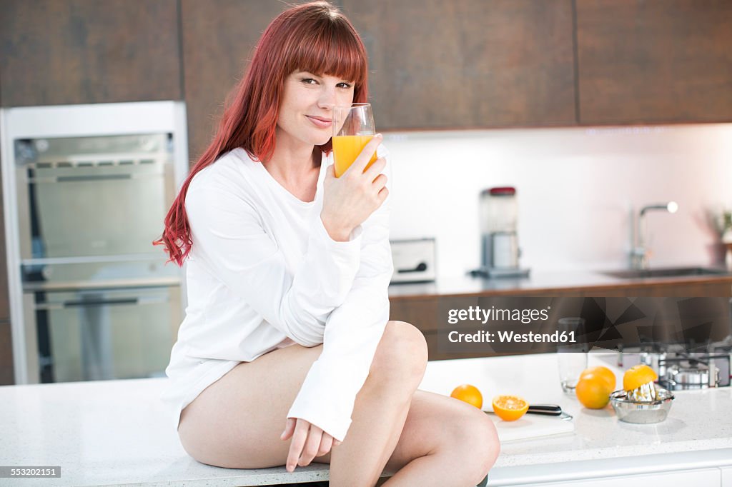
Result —
<instances>
[{"instance_id":1,"label":"row of brown upper cabinet fronts behind the woman's head","mask_svg":"<svg viewBox=\"0 0 732 487\"><path fill-rule=\"evenodd\" d=\"M334 0L379 129L732 121L730 0ZM4 0L3 106L185 99L211 140L273 0Z\"/></svg>"}]
</instances>

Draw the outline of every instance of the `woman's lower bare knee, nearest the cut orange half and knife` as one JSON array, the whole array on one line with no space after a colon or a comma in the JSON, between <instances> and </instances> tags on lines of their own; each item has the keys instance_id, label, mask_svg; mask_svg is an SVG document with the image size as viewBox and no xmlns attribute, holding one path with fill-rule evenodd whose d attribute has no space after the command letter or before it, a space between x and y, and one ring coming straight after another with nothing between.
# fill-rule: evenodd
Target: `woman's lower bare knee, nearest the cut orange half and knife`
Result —
<instances>
[{"instance_id":1,"label":"woman's lower bare knee, nearest the cut orange half and knife","mask_svg":"<svg viewBox=\"0 0 732 487\"><path fill-rule=\"evenodd\" d=\"M474 410L473 410L474 409ZM451 422L450 439L445 448L460 459L471 485L477 485L501 453L501 443L493 421L477 408L466 409Z\"/></svg>"}]
</instances>

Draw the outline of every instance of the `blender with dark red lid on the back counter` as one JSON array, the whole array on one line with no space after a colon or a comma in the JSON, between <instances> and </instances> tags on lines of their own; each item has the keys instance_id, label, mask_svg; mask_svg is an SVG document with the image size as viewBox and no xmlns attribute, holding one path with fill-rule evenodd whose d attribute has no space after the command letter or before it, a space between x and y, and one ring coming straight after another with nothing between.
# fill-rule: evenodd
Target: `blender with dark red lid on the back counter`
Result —
<instances>
[{"instance_id":1,"label":"blender with dark red lid on the back counter","mask_svg":"<svg viewBox=\"0 0 732 487\"><path fill-rule=\"evenodd\" d=\"M529 269L518 265L521 251L516 233L516 189L501 186L480 193L482 255L477 273L488 277L527 277Z\"/></svg>"}]
</instances>

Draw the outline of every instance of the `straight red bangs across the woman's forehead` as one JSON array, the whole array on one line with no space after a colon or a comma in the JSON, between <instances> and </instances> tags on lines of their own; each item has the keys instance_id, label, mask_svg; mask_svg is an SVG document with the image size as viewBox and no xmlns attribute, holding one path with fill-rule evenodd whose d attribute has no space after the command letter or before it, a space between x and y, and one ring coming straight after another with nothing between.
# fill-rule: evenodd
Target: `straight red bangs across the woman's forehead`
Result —
<instances>
[{"instance_id":1,"label":"straight red bangs across the woman's forehead","mask_svg":"<svg viewBox=\"0 0 732 487\"><path fill-rule=\"evenodd\" d=\"M308 26L289 53L285 64L288 72L307 71L313 75L330 75L362 86L367 79L366 49L361 39L342 18L320 18Z\"/></svg>"}]
</instances>

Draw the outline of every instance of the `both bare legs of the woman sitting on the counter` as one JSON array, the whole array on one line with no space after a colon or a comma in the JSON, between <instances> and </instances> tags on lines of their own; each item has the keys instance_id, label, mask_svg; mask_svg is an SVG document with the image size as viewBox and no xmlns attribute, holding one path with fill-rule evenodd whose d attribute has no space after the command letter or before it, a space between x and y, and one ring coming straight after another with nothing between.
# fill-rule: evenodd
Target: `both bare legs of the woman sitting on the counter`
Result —
<instances>
[{"instance_id":1,"label":"both bare legs of the woman sitting on the counter","mask_svg":"<svg viewBox=\"0 0 732 487\"><path fill-rule=\"evenodd\" d=\"M343 444L315 458L331 464L333 487L373 486L384 465L399 471L385 486L468 486L493 465L496 431L482 412L414 391L426 362L424 339L414 332L411 325L389 322ZM285 416L321 350L275 350L214 382L183 411L179 436L185 450L219 467L283 465L289 448L280 440Z\"/></svg>"}]
</instances>

